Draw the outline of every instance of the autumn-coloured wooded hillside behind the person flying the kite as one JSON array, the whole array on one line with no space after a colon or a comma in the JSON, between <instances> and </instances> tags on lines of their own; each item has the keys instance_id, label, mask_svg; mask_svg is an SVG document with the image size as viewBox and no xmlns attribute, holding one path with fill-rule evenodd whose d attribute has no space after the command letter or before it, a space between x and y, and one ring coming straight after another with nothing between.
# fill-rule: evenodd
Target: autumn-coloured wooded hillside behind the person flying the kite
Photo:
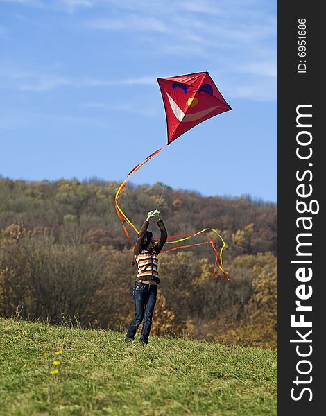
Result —
<instances>
[{"instance_id":1,"label":"autumn-coloured wooded hillside behind the person flying the kite","mask_svg":"<svg viewBox=\"0 0 326 416\"><path fill-rule=\"evenodd\" d=\"M1 315L19 310L23 318L53 324L126 327L136 268L114 209L118 186L0 179ZM161 193L160 183L128 185L120 205L140 227ZM213 277L209 245L161 254L153 332L275 345L277 206L166 187L160 211L170 235L218 229L232 280ZM155 223L151 227L156 234Z\"/></svg>"}]
</instances>

